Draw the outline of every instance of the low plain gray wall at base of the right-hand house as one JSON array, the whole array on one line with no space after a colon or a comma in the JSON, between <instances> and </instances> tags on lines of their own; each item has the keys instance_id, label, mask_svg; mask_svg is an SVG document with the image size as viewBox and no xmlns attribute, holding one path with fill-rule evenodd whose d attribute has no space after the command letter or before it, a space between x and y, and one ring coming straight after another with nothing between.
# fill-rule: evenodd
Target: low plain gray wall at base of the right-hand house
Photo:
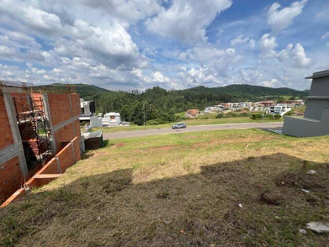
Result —
<instances>
[{"instance_id":1,"label":"low plain gray wall at base of the right-hand house","mask_svg":"<svg viewBox=\"0 0 329 247\"><path fill-rule=\"evenodd\" d=\"M329 135L329 108L322 109L320 120L284 117L282 134L297 137Z\"/></svg>"}]
</instances>

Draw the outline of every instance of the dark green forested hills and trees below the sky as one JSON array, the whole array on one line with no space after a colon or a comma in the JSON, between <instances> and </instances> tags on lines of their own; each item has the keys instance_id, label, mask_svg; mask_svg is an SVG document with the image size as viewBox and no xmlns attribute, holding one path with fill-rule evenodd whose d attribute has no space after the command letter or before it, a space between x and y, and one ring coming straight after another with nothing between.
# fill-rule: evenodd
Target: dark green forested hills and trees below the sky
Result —
<instances>
[{"instance_id":1,"label":"dark green forested hills and trees below the sky","mask_svg":"<svg viewBox=\"0 0 329 247\"><path fill-rule=\"evenodd\" d=\"M157 119L159 122L165 123L175 121L175 113L188 109L204 109L220 102L258 101L262 100L264 95L277 95L271 96L271 99L281 95L296 97L308 95L308 91L297 91L286 87L273 89L246 84L224 87L198 86L185 90L165 90L156 86L143 93L138 90L109 91L87 84L73 85L81 97L86 100L95 100L98 112L119 112L122 119L137 125L143 123L143 109L145 109L146 120ZM66 86L66 84L55 83L35 88L46 92L65 92Z\"/></svg>"}]
</instances>

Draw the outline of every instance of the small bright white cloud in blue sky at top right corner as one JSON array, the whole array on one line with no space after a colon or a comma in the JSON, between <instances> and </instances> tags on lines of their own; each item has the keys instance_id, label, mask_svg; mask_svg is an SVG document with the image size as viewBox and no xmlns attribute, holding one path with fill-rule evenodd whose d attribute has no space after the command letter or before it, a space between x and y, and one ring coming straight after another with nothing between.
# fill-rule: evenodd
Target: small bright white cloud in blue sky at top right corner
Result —
<instances>
[{"instance_id":1,"label":"small bright white cloud in blue sky at top right corner","mask_svg":"<svg viewBox=\"0 0 329 247\"><path fill-rule=\"evenodd\" d=\"M277 34L288 27L293 19L302 12L306 2L307 0L296 1L281 10L279 10L281 7L279 3L273 3L267 12L267 23L272 32Z\"/></svg>"}]
</instances>

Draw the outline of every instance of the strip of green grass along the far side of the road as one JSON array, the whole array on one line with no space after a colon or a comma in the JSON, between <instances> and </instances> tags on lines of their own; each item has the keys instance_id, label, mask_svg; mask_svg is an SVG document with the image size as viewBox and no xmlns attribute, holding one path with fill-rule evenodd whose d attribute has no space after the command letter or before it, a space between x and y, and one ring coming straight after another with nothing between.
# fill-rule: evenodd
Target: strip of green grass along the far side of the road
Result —
<instances>
[{"instance_id":1,"label":"strip of green grass along the far side of the road","mask_svg":"<svg viewBox=\"0 0 329 247\"><path fill-rule=\"evenodd\" d=\"M205 119L206 117L199 117L197 119L187 119L178 122L185 122L188 126L196 126L196 125L217 125L217 124L225 124L225 123L246 123L246 122L261 122L262 120L251 119L250 117L229 117L229 118L215 118L211 114L209 119ZM273 119L273 120L264 120L264 122L275 122L282 121L282 119ZM138 126L138 125L130 125L130 126L119 126L119 127L106 127L106 128L93 128L90 131L102 130L103 132L117 132L117 131L130 131L130 130L148 130L148 129L157 129L157 128L169 128L173 126L177 122L165 123L163 125L146 125L146 126Z\"/></svg>"}]
</instances>

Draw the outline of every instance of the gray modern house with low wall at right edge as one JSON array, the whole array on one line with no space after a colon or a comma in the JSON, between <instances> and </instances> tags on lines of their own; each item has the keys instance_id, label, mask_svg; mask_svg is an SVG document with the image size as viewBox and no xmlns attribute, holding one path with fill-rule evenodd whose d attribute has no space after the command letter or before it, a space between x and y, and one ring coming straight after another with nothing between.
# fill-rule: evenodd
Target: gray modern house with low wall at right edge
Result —
<instances>
[{"instance_id":1,"label":"gray modern house with low wall at right edge","mask_svg":"<svg viewBox=\"0 0 329 247\"><path fill-rule=\"evenodd\" d=\"M304 118L284 117L282 134L319 136L329 134L329 69L313 73Z\"/></svg>"}]
</instances>

